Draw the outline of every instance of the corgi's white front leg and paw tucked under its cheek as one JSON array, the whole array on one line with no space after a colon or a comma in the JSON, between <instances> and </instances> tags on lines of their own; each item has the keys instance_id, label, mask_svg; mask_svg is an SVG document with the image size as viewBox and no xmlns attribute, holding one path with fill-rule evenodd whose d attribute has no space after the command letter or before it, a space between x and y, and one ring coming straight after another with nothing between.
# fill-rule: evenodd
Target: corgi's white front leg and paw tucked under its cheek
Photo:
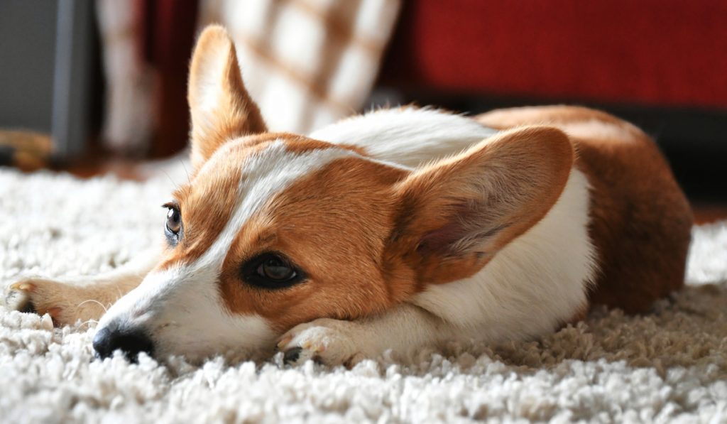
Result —
<instances>
[{"instance_id":1,"label":"corgi's white front leg and paw tucked under its cheek","mask_svg":"<svg viewBox=\"0 0 727 424\"><path fill-rule=\"evenodd\" d=\"M414 353L417 348L449 340L452 324L415 305L403 303L391 311L356 321L316 319L297 325L278 343L286 363L316 359L324 364L350 366L387 349Z\"/></svg>"}]
</instances>

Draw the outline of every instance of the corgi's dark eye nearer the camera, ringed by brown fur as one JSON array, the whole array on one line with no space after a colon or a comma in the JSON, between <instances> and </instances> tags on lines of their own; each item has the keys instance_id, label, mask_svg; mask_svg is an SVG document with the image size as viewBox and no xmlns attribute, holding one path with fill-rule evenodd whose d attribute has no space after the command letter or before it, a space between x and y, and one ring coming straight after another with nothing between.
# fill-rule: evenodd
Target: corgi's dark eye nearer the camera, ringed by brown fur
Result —
<instances>
[{"instance_id":1,"label":"corgi's dark eye nearer the camera, ringed by brown fur","mask_svg":"<svg viewBox=\"0 0 727 424\"><path fill-rule=\"evenodd\" d=\"M302 281L303 274L278 253L263 253L242 266L242 276L249 284L267 289L289 287Z\"/></svg>"}]
</instances>

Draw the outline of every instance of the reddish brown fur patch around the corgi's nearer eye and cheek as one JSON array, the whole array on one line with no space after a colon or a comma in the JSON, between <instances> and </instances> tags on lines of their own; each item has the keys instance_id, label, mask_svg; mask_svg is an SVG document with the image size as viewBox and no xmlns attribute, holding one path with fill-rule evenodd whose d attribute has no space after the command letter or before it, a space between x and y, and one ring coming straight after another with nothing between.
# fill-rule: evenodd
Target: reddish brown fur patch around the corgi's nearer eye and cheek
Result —
<instances>
[{"instance_id":1,"label":"reddish brown fur patch around the corgi's nearer eye and cheek","mask_svg":"<svg viewBox=\"0 0 727 424\"><path fill-rule=\"evenodd\" d=\"M381 266L393 226L391 187L405 175L339 159L279 193L241 229L225 258L220 284L230 311L257 313L283 331L321 317L367 316L411 295L410 284L391 283ZM308 280L278 290L250 286L239 269L261 252L281 252Z\"/></svg>"}]
</instances>

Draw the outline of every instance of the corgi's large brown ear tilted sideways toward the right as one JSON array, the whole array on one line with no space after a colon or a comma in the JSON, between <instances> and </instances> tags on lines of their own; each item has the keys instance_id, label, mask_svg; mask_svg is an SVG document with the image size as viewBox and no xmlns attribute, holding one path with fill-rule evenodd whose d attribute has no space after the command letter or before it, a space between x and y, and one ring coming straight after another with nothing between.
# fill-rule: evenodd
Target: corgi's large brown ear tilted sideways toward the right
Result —
<instances>
[{"instance_id":1,"label":"corgi's large brown ear tilted sideways toward the right","mask_svg":"<svg viewBox=\"0 0 727 424\"><path fill-rule=\"evenodd\" d=\"M413 172L398 186L389 255L422 283L473 275L553 207L573 161L563 132L522 127Z\"/></svg>"}]
</instances>

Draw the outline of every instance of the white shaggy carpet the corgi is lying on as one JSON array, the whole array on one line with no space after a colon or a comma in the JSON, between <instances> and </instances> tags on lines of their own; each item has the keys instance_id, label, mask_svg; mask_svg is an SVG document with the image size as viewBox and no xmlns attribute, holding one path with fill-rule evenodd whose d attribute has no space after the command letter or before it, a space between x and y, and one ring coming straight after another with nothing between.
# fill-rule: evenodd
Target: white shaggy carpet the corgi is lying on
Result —
<instances>
[{"instance_id":1,"label":"white shaggy carpet the corgi is lying on","mask_svg":"<svg viewBox=\"0 0 727 424\"><path fill-rule=\"evenodd\" d=\"M161 232L169 181L0 170L0 285L96 273ZM98 361L92 329L0 306L0 422L727 423L727 223L694 230L690 285L646 316L594 311L543 340L452 345L352 370Z\"/></svg>"}]
</instances>

